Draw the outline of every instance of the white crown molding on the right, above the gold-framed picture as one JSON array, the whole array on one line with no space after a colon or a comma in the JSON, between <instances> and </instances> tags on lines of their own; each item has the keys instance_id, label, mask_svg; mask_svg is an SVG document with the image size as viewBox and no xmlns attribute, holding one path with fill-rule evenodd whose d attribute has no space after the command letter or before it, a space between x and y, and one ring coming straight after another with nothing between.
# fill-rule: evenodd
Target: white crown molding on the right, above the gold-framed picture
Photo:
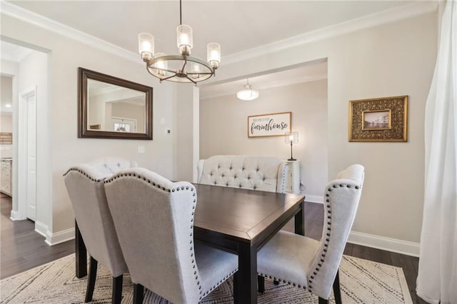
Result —
<instances>
[{"instance_id":1,"label":"white crown molding on the right, above the gold-framed picture","mask_svg":"<svg viewBox=\"0 0 457 304\"><path fill-rule=\"evenodd\" d=\"M329 39L334 36L348 34L353 31L359 31L361 29L367 29L372 26L378 26L381 24L388 24L393 21L401 19L408 19L421 14L426 14L431 11L438 9L438 1L418 1L412 4L405 4L398 6L393 9L381 11L375 14L363 16L357 19L342 22L340 24L334 24L323 29L316 31L310 31L305 34L300 34L287 39L266 44L246 51L241 51L229 56L223 57L224 64L234 64L239 61L246 61L253 59L258 56L265 56L267 54L276 53L283 51L284 49L291 49L304 44L309 44L314 41L323 39Z\"/></svg>"}]
</instances>

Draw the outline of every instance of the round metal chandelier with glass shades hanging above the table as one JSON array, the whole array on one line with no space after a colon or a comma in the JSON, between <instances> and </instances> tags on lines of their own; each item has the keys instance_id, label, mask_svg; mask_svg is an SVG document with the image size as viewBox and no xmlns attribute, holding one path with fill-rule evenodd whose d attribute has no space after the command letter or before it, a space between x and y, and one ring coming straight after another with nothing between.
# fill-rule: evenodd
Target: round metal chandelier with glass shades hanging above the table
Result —
<instances>
[{"instance_id":1,"label":"round metal chandelier with glass shades hanging above the table","mask_svg":"<svg viewBox=\"0 0 457 304\"><path fill-rule=\"evenodd\" d=\"M160 82L192 82L197 84L215 75L221 62L221 45L211 42L206 47L207 61L191 56L193 47L192 28L182 24L181 0L179 0L179 26L177 45L179 55L154 53L154 36L141 33L138 36L139 54L149 74L160 79Z\"/></svg>"}]
</instances>

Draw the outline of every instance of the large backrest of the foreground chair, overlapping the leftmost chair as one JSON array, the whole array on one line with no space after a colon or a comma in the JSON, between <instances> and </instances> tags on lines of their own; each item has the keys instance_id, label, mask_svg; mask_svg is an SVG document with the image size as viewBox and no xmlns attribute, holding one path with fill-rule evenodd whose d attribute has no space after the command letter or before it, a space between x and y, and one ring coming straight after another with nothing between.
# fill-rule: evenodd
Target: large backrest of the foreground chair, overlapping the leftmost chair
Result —
<instances>
[{"instance_id":1,"label":"large backrest of the foreground chair, overlapping the leftmost chair","mask_svg":"<svg viewBox=\"0 0 457 304\"><path fill-rule=\"evenodd\" d=\"M132 282L171 303L198 303L194 186L133 168L107 178L105 189Z\"/></svg>"}]
</instances>

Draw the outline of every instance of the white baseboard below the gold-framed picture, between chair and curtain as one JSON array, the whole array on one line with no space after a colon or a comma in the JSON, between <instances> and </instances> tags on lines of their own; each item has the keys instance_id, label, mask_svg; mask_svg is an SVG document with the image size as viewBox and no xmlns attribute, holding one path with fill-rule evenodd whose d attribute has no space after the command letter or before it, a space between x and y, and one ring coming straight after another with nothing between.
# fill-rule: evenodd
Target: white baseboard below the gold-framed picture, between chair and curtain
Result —
<instances>
[{"instance_id":1,"label":"white baseboard below the gold-framed picture, between chair and curtain","mask_svg":"<svg viewBox=\"0 0 457 304\"><path fill-rule=\"evenodd\" d=\"M407 240L397 240L395 238L385 238L383 236L352 231L349 234L348 243L387 250L404 255L419 256L420 244L409 242Z\"/></svg>"}]
</instances>

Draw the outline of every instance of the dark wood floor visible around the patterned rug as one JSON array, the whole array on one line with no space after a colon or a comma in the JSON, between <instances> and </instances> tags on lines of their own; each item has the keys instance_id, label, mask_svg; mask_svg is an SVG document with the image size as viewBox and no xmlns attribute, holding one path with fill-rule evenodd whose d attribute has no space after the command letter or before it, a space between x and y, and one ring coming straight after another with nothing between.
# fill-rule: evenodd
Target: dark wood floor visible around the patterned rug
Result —
<instances>
[{"instance_id":1,"label":"dark wood floor visible around the patterned rug","mask_svg":"<svg viewBox=\"0 0 457 304\"><path fill-rule=\"evenodd\" d=\"M0 203L0 278L7 278L74 253L74 241L49 246L44 243L45 238L34 231L34 222L29 220L11 221L9 218L11 198L9 196L1 197ZM306 203L305 208L306 235L318 240L321 238L323 227L323 205ZM293 227L293 225L288 225L288 228L290 227ZM346 245L344 254L403 268L413 303L426 304L416 295L418 258L350 243Z\"/></svg>"}]
</instances>

